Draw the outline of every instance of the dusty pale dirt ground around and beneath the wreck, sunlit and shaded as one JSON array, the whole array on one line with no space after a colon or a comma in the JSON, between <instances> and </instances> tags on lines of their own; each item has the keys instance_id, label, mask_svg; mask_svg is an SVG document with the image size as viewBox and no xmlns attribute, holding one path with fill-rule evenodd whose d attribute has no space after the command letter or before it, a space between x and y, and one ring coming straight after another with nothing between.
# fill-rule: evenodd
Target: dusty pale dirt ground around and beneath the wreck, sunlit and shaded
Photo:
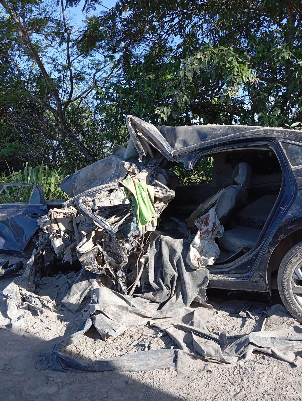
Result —
<instances>
[{"instance_id":1,"label":"dusty pale dirt ground around and beneath the wreck, sunlit and shaded","mask_svg":"<svg viewBox=\"0 0 302 401\"><path fill-rule=\"evenodd\" d=\"M0 399L92 401L135 400L300 400L302 399L302 358L296 365L265 354L253 354L251 360L238 365L212 364L210 371L200 371L196 364L183 374L174 369L145 372L61 373L37 371L35 362L41 353L51 350L58 336L71 334L83 320L61 305L74 273L45 277L38 282L35 293L45 303L43 313L24 309L11 331L0 330ZM0 290L9 282L0 280ZM243 334L260 330L262 313L270 305L259 294L208 292L214 307L212 331ZM4 302L0 293L0 306ZM249 311L251 317L240 316ZM241 313L241 315L243 315ZM298 324L291 317L270 320L263 330L290 328ZM96 360L126 352L173 348L175 344L164 332L144 326L128 330L106 342L90 330L79 342L67 347L66 353L80 360ZM176 346L175 346L176 348ZM300 353L301 354L301 353Z\"/></svg>"}]
</instances>

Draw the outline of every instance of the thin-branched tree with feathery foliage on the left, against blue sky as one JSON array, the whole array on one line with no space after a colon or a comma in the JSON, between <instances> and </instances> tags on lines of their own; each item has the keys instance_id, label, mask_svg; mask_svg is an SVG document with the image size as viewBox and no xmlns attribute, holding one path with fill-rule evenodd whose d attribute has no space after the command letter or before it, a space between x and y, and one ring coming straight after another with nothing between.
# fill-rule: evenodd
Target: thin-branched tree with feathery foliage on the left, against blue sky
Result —
<instances>
[{"instance_id":1,"label":"thin-branched tree with feathery foliage on the left, against blue sky","mask_svg":"<svg viewBox=\"0 0 302 401\"><path fill-rule=\"evenodd\" d=\"M93 53L83 49L63 1L0 0L0 6L2 136L13 134L31 162L67 165L72 172L96 161L104 154L97 138L106 132L100 133L92 91L105 87L115 69L106 35L98 35L102 43ZM78 131L80 119L85 128Z\"/></svg>"}]
</instances>

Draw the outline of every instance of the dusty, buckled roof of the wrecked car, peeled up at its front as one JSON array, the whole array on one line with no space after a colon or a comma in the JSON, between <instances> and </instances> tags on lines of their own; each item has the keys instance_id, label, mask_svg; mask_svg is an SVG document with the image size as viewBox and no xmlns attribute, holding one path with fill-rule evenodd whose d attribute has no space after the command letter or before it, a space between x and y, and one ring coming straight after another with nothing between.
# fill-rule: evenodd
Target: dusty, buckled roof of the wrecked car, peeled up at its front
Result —
<instances>
[{"instance_id":1,"label":"dusty, buckled roof of the wrecked car, peeled up at its front","mask_svg":"<svg viewBox=\"0 0 302 401\"><path fill-rule=\"evenodd\" d=\"M186 168L192 168L192 160L197 153L232 142L271 139L290 140L302 144L302 132L283 128L235 124L154 126L133 115L127 116L126 124L135 143L143 139L159 150L168 160L183 162ZM140 156L143 156L143 152L142 150Z\"/></svg>"}]
</instances>

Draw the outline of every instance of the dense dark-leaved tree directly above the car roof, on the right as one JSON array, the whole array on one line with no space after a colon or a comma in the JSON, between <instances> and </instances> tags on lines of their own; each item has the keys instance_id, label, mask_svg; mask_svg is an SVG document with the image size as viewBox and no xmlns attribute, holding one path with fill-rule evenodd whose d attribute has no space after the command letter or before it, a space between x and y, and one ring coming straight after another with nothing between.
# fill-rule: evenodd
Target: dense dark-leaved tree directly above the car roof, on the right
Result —
<instances>
[{"instance_id":1,"label":"dense dark-leaved tree directly above the car roof, on the right","mask_svg":"<svg viewBox=\"0 0 302 401\"><path fill-rule=\"evenodd\" d=\"M107 123L302 121L300 2L120 0L98 20L120 52L120 78L99 95Z\"/></svg>"}]
</instances>

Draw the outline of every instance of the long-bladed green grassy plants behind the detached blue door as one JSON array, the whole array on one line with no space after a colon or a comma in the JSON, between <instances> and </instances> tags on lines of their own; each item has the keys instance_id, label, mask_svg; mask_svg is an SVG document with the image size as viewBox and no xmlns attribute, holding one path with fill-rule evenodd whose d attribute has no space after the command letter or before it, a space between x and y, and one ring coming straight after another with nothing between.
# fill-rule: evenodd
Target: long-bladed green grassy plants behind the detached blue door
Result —
<instances>
[{"instance_id":1,"label":"long-bladed green grassy plants behind the detached blue door","mask_svg":"<svg viewBox=\"0 0 302 401\"><path fill-rule=\"evenodd\" d=\"M37 167L31 167L28 162L23 166L22 170L14 171L9 169L9 173L0 174L0 184L24 183L36 184L43 188L45 200L47 199L64 199L65 192L61 190L59 184L65 178L66 173L60 168L47 166L43 162ZM4 188L0 201L2 203L10 202L26 202L31 193L30 188L11 187Z\"/></svg>"}]
</instances>

